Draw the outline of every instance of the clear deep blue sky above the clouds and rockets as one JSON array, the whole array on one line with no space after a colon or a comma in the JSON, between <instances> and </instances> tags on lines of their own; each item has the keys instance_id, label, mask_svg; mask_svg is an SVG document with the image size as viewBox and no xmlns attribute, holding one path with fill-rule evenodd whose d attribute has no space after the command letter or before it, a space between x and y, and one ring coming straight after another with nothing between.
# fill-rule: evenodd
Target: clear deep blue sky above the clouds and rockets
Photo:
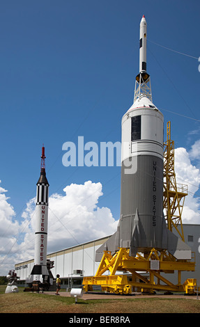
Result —
<instances>
[{"instance_id":1,"label":"clear deep blue sky above the clouds and rockets","mask_svg":"<svg viewBox=\"0 0 200 327\"><path fill-rule=\"evenodd\" d=\"M36 196L43 143L50 195L62 195L71 183L100 182L98 207L119 218L120 167L67 168L62 146L77 144L78 136L98 145L121 141L121 118L132 105L139 72L142 15L164 139L171 120L175 147L190 152L200 139L199 12L197 0L1 2L0 186L15 211L13 221L22 221ZM191 161L197 168L198 155Z\"/></svg>"}]
</instances>

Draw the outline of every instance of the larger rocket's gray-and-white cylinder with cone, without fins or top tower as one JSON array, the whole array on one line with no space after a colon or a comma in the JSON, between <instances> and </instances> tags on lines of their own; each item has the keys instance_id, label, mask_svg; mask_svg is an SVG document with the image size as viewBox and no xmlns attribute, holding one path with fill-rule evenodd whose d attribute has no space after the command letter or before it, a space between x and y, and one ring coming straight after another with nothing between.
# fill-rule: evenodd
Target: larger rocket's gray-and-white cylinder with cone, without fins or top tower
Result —
<instances>
[{"instance_id":1,"label":"larger rocket's gray-and-white cylinder with cone, without fins or top tower","mask_svg":"<svg viewBox=\"0 0 200 327\"><path fill-rule=\"evenodd\" d=\"M163 115L146 97L122 118L121 247L163 248Z\"/></svg>"}]
</instances>

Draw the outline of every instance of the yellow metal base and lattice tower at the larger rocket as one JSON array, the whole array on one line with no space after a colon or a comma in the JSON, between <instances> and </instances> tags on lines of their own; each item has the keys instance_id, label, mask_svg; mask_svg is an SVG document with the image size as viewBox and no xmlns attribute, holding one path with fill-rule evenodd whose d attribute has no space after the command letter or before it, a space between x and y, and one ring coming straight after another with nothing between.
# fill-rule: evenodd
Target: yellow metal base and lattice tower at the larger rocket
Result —
<instances>
[{"instance_id":1,"label":"yellow metal base and lattice tower at the larger rocket","mask_svg":"<svg viewBox=\"0 0 200 327\"><path fill-rule=\"evenodd\" d=\"M164 143L164 191L163 205L166 212L167 227L176 228L180 238L184 241L181 214L183 200L187 196L187 187L176 184L174 171L174 141L171 141L171 126L167 122L167 142ZM178 231L180 225L181 232ZM93 285L100 285L102 291L120 294L134 292L150 292L157 290L165 292L194 293L197 280L189 278L181 283L182 271L195 270L195 256L192 260L177 260L167 250L144 250L130 257L129 248L119 248L112 255L105 251L98 270L93 277L84 277L83 285L86 292L93 289ZM164 278L164 273L177 272L177 282L173 284Z\"/></svg>"}]
</instances>

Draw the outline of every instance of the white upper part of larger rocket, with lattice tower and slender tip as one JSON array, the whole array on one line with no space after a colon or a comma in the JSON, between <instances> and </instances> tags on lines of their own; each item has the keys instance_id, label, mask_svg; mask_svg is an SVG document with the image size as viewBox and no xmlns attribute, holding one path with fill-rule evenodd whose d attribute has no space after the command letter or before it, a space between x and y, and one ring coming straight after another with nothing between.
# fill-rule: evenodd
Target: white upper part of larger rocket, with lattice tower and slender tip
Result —
<instances>
[{"instance_id":1,"label":"white upper part of larger rocket, with lattice tower and slender tip","mask_svg":"<svg viewBox=\"0 0 200 327\"><path fill-rule=\"evenodd\" d=\"M146 19L143 15L139 29L138 88L135 88L134 103L123 115L121 123L122 163L140 155L153 155L163 160L164 118L151 101L151 85L147 87L149 82L150 77L146 73Z\"/></svg>"}]
</instances>

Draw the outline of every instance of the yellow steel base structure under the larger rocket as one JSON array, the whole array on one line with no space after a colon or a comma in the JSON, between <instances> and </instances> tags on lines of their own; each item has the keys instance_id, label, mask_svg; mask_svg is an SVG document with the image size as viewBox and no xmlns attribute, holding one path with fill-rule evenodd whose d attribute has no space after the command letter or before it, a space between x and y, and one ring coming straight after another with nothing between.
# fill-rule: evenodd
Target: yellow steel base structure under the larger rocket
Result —
<instances>
[{"instance_id":1,"label":"yellow steel base structure under the larger rocket","mask_svg":"<svg viewBox=\"0 0 200 327\"><path fill-rule=\"evenodd\" d=\"M197 280L189 278L181 282L182 271L195 270L194 261L176 260L167 250L155 248L137 253L135 257L130 257L129 252L129 248L119 248L114 255L105 251L95 276L84 277L84 291L92 291L93 285L100 285L102 291L115 294L155 291L194 294ZM174 271L178 271L178 280L173 284L163 273Z\"/></svg>"}]
</instances>

